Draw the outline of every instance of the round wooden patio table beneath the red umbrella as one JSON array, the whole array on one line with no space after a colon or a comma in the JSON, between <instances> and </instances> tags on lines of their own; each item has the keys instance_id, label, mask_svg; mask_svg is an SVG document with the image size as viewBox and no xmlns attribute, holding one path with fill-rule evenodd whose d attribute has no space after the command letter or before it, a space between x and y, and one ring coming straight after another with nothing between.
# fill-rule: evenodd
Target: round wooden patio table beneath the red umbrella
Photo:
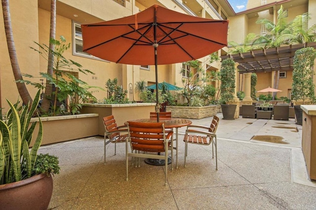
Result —
<instances>
[{"instance_id":1,"label":"round wooden patio table beneath the red umbrella","mask_svg":"<svg viewBox=\"0 0 316 210\"><path fill-rule=\"evenodd\" d=\"M151 123L151 122L157 122L157 119L148 118L148 119L137 119L137 120L129 120L129 121ZM192 121L188 119L182 119L182 118L160 118L159 122L163 122L164 128L176 129L176 147L173 147L173 149L176 150L176 156L177 156L176 168L178 168L178 128L190 125L192 124ZM124 124L127 125L127 122L125 122ZM164 160L158 160L158 159L147 158L145 162L151 165L164 165ZM171 163L171 158L170 158L170 163ZM169 164L169 158L168 158L168 164ZM171 166L171 170L173 170L173 165Z\"/></svg>"}]
</instances>

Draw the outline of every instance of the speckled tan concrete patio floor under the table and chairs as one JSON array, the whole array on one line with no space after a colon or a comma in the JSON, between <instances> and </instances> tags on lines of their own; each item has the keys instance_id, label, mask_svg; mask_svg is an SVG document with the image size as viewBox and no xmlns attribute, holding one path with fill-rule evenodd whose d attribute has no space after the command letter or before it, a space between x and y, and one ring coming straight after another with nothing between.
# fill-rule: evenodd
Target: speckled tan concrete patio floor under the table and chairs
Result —
<instances>
[{"instance_id":1,"label":"speckled tan concrete patio floor under the table and chairs","mask_svg":"<svg viewBox=\"0 0 316 210\"><path fill-rule=\"evenodd\" d=\"M211 119L192 121L209 126ZM179 168L168 166L167 186L163 166L144 162L129 167L126 181L125 144L118 144L117 155L108 144L104 165L101 136L41 147L61 166L49 209L316 209L316 181L307 177L302 126L294 119L220 120L218 171L211 146L189 145L184 168L184 131L179 129Z\"/></svg>"}]
</instances>

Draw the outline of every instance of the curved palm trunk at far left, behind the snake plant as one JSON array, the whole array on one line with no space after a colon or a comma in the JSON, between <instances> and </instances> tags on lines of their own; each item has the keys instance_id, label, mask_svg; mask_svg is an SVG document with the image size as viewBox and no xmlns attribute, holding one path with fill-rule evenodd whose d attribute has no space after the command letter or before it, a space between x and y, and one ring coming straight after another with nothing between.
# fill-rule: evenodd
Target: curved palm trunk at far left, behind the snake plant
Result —
<instances>
[{"instance_id":1,"label":"curved palm trunk at far left, behind the snake plant","mask_svg":"<svg viewBox=\"0 0 316 210\"><path fill-rule=\"evenodd\" d=\"M9 1L1 0L1 4L2 4L2 12L3 12L4 30L5 30L5 35L6 35L6 43L8 46L14 79L23 80L19 63L18 63L18 58L16 55L15 45L14 45ZM23 104L32 103L33 102L32 97L29 91L27 90L25 83L16 83L16 86L18 88Z\"/></svg>"}]
</instances>

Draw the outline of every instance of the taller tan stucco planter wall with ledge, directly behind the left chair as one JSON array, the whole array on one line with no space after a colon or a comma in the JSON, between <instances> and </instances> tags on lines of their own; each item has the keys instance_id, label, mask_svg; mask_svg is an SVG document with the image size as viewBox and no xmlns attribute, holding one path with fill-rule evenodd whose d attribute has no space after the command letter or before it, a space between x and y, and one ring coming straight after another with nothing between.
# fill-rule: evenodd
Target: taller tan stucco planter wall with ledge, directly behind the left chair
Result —
<instances>
[{"instance_id":1,"label":"taller tan stucco planter wall with ledge, directly behind the left chair","mask_svg":"<svg viewBox=\"0 0 316 210\"><path fill-rule=\"evenodd\" d=\"M155 112L156 103L133 104L84 104L81 113L97 113L98 135L104 136L103 117L113 115L118 125L125 121L149 118L150 112Z\"/></svg>"}]
</instances>

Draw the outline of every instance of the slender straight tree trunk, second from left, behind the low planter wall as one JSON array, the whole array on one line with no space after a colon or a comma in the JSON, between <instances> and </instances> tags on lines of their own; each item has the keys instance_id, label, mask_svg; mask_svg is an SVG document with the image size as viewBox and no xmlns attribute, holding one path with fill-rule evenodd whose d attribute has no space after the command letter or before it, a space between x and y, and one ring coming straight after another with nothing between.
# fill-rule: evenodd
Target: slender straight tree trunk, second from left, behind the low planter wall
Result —
<instances>
[{"instance_id":1,"label":"slender straight tree trunk, second from left, behind the low planter wall","mask_svg":"<svg viewBox=\"0 0 316 210\"><path fill-rule=\"evenodd\" d=\"M50 33L49 33L49 39L55 39L56 34L56 0L50 1ZM51 53L52 50L54 50L54 45L49 42L49 54L48 54L48 66L47 66L47 74L53 75L53 68L54 68L54 57ZM45 93L43 97L43 101L41 104L41 112L47 113L49 111L50 107L50 101L52 97L52 84L50 84L46 80L45 84Z\"/></svg>"}]
</instances>

